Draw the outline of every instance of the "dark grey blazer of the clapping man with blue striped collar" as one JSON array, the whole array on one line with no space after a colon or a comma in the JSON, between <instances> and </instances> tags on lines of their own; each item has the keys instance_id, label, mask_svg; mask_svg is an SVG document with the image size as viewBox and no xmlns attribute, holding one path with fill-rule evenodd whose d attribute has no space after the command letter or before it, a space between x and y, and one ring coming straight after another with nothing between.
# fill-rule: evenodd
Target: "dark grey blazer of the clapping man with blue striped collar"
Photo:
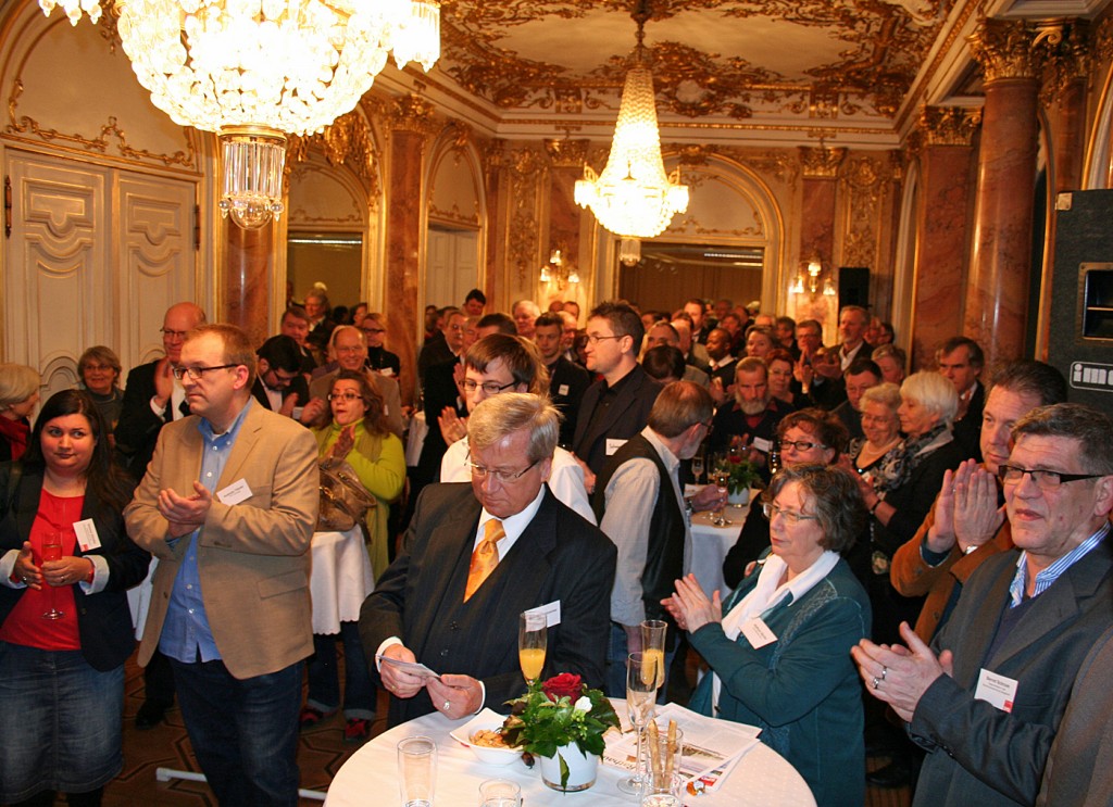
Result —
<instances>
[{"instance_id":1,"label":"dark grey blazer of the clapping man with blue striped collar","mask_svg":"<svg viewBox=\"0 0 1113 807\"><path fill-rule=\"evenodd\" d=\"M1031 602L988 658L1020 552L986 560L932 647L954 652L916 706L909 731L928 749L914 805L1030 805L1075 676L1110 626L1113 542L1106 539ZM1012 713L974 699L982 668L1018 681Z\"/></svg>"}]
</instances>

